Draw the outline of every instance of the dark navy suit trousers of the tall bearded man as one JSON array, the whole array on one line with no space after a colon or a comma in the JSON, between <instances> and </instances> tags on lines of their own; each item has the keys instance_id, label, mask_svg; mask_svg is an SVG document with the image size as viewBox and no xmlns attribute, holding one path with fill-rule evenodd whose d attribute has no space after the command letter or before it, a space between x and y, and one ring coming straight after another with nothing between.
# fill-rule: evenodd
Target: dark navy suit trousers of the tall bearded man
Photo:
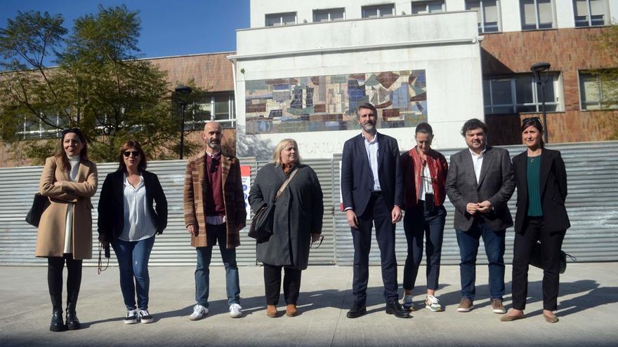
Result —
<instances>
[{"instance_id":1,"label":"dark navy suit trousers of the tall bearded man","mask_svg":"<svg viewBox=\"0 0 618 347\"><path fill-rule=\"evenodd\" d=\"M376 225L376 240L380 248L384 299L388 304L397 301L397 260L395 259L395 224L381 194L372 194L367 210L358 219L358 229L352 229L354 243L354 275L352 292L355 304L367 302L369 281L369 250L372 247L372 228Z\"/></svg>"}]
</instances>

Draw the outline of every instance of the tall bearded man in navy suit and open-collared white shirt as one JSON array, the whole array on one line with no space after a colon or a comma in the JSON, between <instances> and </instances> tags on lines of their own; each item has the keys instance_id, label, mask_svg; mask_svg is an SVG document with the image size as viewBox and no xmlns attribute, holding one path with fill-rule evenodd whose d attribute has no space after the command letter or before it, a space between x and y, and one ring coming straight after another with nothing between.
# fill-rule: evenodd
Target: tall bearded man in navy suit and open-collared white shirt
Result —
<instances>
[{"instance_id":1,"label":"tall bearded man in navy suit and open-collared white shirt","mask_svg":"<svg viewBox=\"0 0 618 347\"><path fill-rule=\"evenodd\" d=\"M395 224L401 220L403 203L399 146L393 137L376 131L374 105L361 104L356 114L362 132L343 144L341 157L341 196L354 243L354 303L347 316L357 318L367 312L369 249L375 224L386 313L410 318L397 300Z\"/></svg>"}]
</instances>

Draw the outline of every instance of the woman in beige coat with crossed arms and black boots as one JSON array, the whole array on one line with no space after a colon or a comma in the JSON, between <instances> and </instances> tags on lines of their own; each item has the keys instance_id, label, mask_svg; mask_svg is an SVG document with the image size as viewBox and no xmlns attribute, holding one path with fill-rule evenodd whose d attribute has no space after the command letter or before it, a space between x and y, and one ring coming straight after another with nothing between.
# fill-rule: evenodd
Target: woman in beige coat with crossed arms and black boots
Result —
<instances>
[{"instance_id":1,"label":"woman in beige coat with crossed arms and black boots","mask_svg":"<svg viewBox=\"0 0 618 347\"><path fill-rule=\"evenodd\" d=\"M47 282L53 315L49 329L79 329L75 313L81 261L92 258L92 203L97 189L97 168L88 161L84 134L63 130L60 149L47 158L39 191L51 202L43 212L37 233L37 257L48 261ZM63 322L63 268L67 264L67 325Z\"/></svg>"}]
</instances>

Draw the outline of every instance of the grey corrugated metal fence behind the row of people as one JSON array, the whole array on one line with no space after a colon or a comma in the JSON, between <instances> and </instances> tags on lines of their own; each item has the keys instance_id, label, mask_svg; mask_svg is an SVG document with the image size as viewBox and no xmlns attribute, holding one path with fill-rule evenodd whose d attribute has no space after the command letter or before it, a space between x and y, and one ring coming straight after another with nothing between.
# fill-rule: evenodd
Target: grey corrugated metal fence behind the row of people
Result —
<instances>
[{"instance_id":1,"label":"grey corrugated metal fence behind the row of people","mask_svg":"<svg viewBox=\"0 0 618 347\"><path fill-rule=\"evenodd\" d=\"M522 151L521 146L504 147L511 156ZM572 227L567 232L563 249L573 254L579 261L618 260L618 142L585 144L560 144L548 146L562 151L567 165L569 196L567 211ZM459 149L441 150L447 158ZM353 246L350 229L345 215L339 208L339 160L311 159L310 165L322 184L324 191L324 242L312 250L311 264L350 265L353 259ZM241 158L242 165L251 166L251 182L256 172L265 162L255 158ZM105 175L116 170L117 164L98 165L100 185ZM166 231L157 236L152 250L150 264L155 266L195 265L195 250L190 246L189 236L183 222L183 181L184 161L150 162L148 170L155 172L161 180L169 202L169 224ZM24 222L24 217L32 203L32 196L38 190L42 168L1 168L0 169L0 265L44 265L45 259L34 257L37 230ZM99 186L100 188L100 186ZM93 223L96 225L98 192L93 198ZM447 200L447 224L442 249L442 264L458 264L459 249L452 227L453 207ZM515 211L515 196L509 202ZM96 227L94 228L96 230ZM254 265L255 243L241 231L241 246L237 248L237 260L242 265ZM510 261L513 249L513 230L507 231L506 261ZM96 231L94 231L96 234ZM403 224L397 224L397 260L403 264L406 254ZM95 237L96 240L96 237ZM95 241L94 256L98 243ZM479 251L479 262L485 258L484 250ZM113 252L112 252L113 257ZM379 264L379 252L374 241L370 256L372 264ZM86 261L96 264L96 260ZM112 258L110 264L115 265ZM213 252L213 264L221 264L219 252Z\"/></svg>"}]
</instances>

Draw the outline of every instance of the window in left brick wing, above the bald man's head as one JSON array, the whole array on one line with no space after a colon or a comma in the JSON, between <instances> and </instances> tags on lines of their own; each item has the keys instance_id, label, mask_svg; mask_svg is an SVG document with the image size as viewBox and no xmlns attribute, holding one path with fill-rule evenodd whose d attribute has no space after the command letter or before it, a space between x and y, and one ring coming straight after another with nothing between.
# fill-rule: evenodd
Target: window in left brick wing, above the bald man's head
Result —
<instances>
[{"instance_id":1,"label":"window in left brick wing, above the bald man's head","mask_svg":"<svg viewBox=\"0 0 618 347\"><path fill-rule=\"evenodd\" d=\"M235 128L236 112L234 93L206 94L199 97L190 108L185 129L199 130L208 121L218 121L223 128Z\"/></svg>"}]
</instances>

